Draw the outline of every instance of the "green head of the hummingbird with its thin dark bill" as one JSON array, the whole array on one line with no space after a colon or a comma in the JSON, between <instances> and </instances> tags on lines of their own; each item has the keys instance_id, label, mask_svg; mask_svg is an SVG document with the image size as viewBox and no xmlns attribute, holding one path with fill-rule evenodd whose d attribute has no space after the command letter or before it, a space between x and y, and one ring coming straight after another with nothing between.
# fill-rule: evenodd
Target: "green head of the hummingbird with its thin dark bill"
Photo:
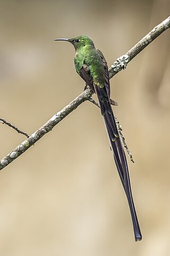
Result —
<instances>
[{"instance_id":1,"label":"green head of the hummingbird with its thin dark bill","mask_svg":"<svg viewBox=\"0 0 170 256\"><path fill-rule=\"evenodd\" d=\"M54 41L67 41L74 45L75 51L82 49L84 46L94 46L94 42L89 36L80 35L72 38L58 38Z\"/></svg>"}]
</instances>

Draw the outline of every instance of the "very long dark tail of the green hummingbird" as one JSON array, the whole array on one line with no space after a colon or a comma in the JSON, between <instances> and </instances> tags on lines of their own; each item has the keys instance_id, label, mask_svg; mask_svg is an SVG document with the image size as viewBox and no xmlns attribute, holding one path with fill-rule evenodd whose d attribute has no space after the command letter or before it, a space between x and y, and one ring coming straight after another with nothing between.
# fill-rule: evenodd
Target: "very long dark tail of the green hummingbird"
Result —
<instances>
[{"instance_id":1,"label":"very long dark tail of the green hummingbird","mask_svg":"<svg viewBox=\"0 0 170 256\"><path fill-rule=\"evenodd\" d=\"M114 154L117 171L118 171L118 174L120 175L122 185L123 185L126 197L128 199L131 217L132 217L135 241L140 241L142 239L142 235L141 235L137 213L135 211L133 197L132 197L128 164L126 161L120 135L117 130L116 121L115 121L115 117L111 107L111 102L109 100L108 92L106 90L106 87L102 89L97 85L95 85L95 91L99 100L101 114L104 117L106 130L107 130L108 138Z\"/></svg>"}]
</instances>

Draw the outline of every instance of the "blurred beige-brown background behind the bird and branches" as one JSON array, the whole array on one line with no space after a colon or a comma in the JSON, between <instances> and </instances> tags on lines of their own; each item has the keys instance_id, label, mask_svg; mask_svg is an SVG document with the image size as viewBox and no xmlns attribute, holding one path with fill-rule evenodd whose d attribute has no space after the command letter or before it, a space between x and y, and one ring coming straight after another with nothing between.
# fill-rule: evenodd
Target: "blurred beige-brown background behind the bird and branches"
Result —
<instances>
[{"instance_id":1,"label":"blurred beige-brown background behind the bird and branches","mask_svg":"<svg viewBox=\"0 0 170 256\"><path fill-rule=\"evenodd\" d=\"M0 117L31 134L77 97L74 48L89 35L110 67L169 15L168 0L0 2ZM169 30L111 80L143 239L99 109L83 103L0 173L0 255L169 255ZM95 97L94 97L95 98ZM25 137L0 123L2 158Z\"/></svg>"}]
</instances>

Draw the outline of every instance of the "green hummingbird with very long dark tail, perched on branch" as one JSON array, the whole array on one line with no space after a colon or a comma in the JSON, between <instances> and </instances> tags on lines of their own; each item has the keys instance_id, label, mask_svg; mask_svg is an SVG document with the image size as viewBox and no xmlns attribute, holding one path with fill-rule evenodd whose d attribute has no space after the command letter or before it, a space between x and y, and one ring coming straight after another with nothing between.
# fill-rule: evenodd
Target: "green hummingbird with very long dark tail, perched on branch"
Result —
<instances>
[{"instance_id":1,"label":"green hummingbird with very long dark tail, perched on branch","mask_svg":"<svg viewBox=\"0 0 170 256\"><path fill-rule=\"evenodd\" d=\"M116 168L128 199L135 241L140 241L142 235L132 197L128 163L126 161L126 156L111 106L117 105L117 102L110 99L111 86L109 83L108 66L105 57L100 50L96 49L94 42L87 35L79 35L73 38L58 38L54 39L54 41L67 41L74 46L75 70L84 80L86 86L88 85L97 95L101 115L104 118L111 150L113 151Z\"/></svg>"}]
</instances>

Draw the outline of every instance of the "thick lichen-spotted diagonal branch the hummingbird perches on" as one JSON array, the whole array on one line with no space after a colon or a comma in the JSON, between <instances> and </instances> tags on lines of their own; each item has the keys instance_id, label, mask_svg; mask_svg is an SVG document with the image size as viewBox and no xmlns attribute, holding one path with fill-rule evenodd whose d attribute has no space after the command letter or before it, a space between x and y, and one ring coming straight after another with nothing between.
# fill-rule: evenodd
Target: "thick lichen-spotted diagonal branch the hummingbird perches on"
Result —
<instances>
[{"instance_id":1,"label":"thick lichen-spotted diagonal branch the hummingbird perches on","mask_svg":"<svg viewBox=\"0 0 170 256\"><path fill-rule=\"evenodd\" d=\"M161 22L158 26L152 29L145 37L143 37L136 45L132 47L123 57L117 59L112 65L109 71L109 79L116 75L120 70L124 69L137 54L139 54L147 45L149 45L155 38L162 34L166 29L170 27L170 16ZM23 154L27 149L34 145L41 137L51 131L53 127L62 121L67 115L69 115L74 109L76 109L81 103L86 100L91 101L91 95L94 94L90 89L83 91L77 98L64 107L61 111L55 114L49 121L41 126L36 132L34 132L28 139L24 140L19 146L12 150L9 154L3 157L0 161L0 170L6 167L8 164L14 161L17 157Z\"/></svg>"}]
</instances>

